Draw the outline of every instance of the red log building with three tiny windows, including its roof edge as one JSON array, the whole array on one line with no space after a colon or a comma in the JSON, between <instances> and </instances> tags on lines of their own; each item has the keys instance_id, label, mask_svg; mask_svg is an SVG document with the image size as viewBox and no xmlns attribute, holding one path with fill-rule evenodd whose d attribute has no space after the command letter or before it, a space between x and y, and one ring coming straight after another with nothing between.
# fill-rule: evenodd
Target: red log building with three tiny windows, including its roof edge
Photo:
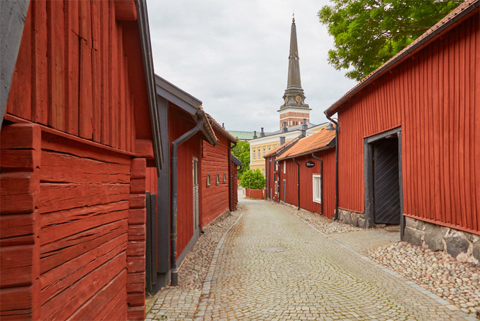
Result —
<instances>
[{"instance_id":1,"label":"red log building with three tiny windows, including its roof edge","mask_svg":"<svg viewBox=\"0 0 480 321\"><path fill-rule=\"evenodd\" d=\"M237 179L233 177L237 165L232 166L230 149L234 138L213 117L207 114L207 119L214 128L218 145L202 146L202 211L200 229L209 224L218 215L234 210L232 191L237 192Z\"/></svg>"}]
</instances>

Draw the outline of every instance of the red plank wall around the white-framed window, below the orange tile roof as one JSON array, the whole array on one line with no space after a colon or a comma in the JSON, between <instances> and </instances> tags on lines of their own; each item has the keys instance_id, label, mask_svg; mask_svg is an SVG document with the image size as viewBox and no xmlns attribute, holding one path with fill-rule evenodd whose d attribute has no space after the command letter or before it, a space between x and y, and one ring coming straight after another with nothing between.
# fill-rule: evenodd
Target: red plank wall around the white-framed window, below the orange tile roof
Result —
<instances>
[{"instance_id":1,"label":"red plank wall around the white-framed window, below the orange tile roof","mask_svg":"<svg viewBox=\"0 0 480 321\"><path fill-rule=\"evenodd\" d=\"M335 215L335 149L319 151L315 156L323 161L323 215L333 217ZM300 163L300 207L307 211L320 213L321 205L313 201L313 174L320 174L320 162L312 156L296 158ZM314 167L305 166L307 161L313 161ZM283 174L283 162L280 162L283 181L287 177L287 194L285 201L298 206L298 192L296 187L297 167L292 159L287 159L287 172ZM293 172L292 172L293 171Z\"/></svg>"}]
</instances>

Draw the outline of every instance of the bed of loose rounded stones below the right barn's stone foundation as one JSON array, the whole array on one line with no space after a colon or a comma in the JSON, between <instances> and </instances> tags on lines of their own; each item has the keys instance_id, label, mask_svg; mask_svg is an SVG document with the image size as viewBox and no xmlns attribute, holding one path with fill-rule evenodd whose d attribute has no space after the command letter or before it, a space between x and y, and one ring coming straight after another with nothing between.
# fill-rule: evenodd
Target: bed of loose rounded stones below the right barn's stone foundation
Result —
<instances>
[{"instance_id":1,"label":"bed of loose rounded stones below the right barn's stone foundation","mask_svg":"<svg viewBox=\"0 0 480 321\"><path fill-rule=\"evenodd\" d=\"M480 318L479 265L407 242L368 249L363 254L447 300L451 310Z\"/></svg>"}]
</instances>

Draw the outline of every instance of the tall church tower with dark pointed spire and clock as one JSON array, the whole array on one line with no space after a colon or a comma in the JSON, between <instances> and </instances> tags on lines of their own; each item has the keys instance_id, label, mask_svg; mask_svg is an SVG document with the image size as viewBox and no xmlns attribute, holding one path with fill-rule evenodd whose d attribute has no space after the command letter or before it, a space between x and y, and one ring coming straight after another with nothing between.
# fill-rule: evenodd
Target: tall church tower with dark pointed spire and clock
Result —
<instances>
[{"instance_id":1,"label":"tall church tower with dark pointed spire and clock","mask_svg":"<svg viewBox=\"0 0 480 321\"><path fill-rule=\"evenodd\" d=\"M296 41L295 18L291 20L290 34L290 54L288 57L288 79L287 89L283 95L285 104L280 106L280 129L283 123L290 126L300 125L306 118L310 122L310 108L305 104L305 94L303 94L302 84L300 81L300 63L298 58L298 46Z\"/></svg>"}]
</instances>

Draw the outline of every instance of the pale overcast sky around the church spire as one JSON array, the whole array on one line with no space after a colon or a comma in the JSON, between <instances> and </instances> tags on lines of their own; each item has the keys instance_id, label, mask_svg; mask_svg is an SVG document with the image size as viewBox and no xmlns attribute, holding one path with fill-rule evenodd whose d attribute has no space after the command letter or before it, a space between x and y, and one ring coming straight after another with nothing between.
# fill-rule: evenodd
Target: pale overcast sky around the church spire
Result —
<instances>
[{"instance_id":1,"label":"pale overcast sky around the church spire","mask_svg":"<svg viewBox=\"0 0 480 321\"><path fill-rule=\"evenodd\" d=\"M291 13L310 122L355 81L328 65L325 0L147 0L155 73L203 102L228 130L279 129L287 88Z\"/></svg>"}]
</instances>

